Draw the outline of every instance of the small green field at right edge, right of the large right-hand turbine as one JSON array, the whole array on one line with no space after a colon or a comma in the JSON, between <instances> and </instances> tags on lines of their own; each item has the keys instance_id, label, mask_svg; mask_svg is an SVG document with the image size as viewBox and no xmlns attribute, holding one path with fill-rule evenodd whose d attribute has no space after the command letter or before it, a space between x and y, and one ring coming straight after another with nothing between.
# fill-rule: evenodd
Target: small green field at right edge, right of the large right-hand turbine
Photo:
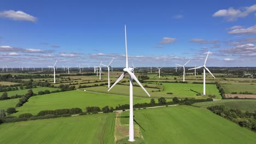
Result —
<instances>
[{"instance_id":1,"label":"small green field at right edge, right of the large right-hand turbine","mask_svg":"<svg viewBox=\"0 0 256 144\"><path fill-rule=\"evenodd\" d=\"M222 84L222 86L225 92L229 94L232 92L251 92L253 94L256 94L256 83L238 82L232 84Z\"/></svg>"}]
</instances>

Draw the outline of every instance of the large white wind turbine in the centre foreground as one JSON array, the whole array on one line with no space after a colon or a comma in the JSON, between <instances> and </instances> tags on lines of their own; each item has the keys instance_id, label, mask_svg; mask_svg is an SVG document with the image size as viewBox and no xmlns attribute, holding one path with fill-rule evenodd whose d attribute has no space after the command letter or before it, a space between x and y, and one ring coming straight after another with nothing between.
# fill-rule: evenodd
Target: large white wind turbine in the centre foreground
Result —
<instances>
[{"instance_id":1,"label":"large white wind turbine in the centre foreground","mask_svg":"<svg viewBox=\"0 0 256 144\"><path fill-rule=\"evenodd\" d=\"M124 75L128 73L130 75L130 118L129 118L129 141L135 141L134 140L134 130L133 130L133 87L132 87L132 79L135 80L139 86L148 94L146 89L141 85L141 83L138 81L136 76L133 74L133 68L128 67L128 55L127 55L127 42L126 42L126 26L125 26L125 54L126 54L126 67L123 69L123 74L120 75L117 81L108 89L112 89L121 79L124 78Z\"/></svg>"}]
</instances>

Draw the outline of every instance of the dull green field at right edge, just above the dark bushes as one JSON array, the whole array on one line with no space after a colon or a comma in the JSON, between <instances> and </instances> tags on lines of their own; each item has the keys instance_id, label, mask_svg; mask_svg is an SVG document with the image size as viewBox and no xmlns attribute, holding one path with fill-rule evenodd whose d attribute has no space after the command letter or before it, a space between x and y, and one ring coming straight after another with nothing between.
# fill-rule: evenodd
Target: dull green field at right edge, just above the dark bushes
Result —
<instances>
[{"instance_id":1,"label":"dull green field at right edge, just above the dark bushes","mask_svg":"<svg viewBox=\"0 0 256 144\"><path fill-rule=\"evenodd\" d=\"M213 105L225 105L230 109L239 109L243 112L256 111L256 99L223 99L218 101L195 103L193 105L200 106L200 107L208 107Z\"/></svg>"}]
</instances>

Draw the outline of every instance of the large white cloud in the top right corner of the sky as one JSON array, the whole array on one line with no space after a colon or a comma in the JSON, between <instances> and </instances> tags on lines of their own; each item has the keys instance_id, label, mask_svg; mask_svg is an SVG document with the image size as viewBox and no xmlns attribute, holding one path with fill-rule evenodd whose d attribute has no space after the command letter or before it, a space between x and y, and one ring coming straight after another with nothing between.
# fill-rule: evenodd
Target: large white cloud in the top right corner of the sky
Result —
<instances>
[{"instance_id":1,"label":"large white cloud in the top right corner of the sky","mask_svg":"<svg viewBox=\"0 0 256 144\"><path fill-rule=\"evenodd\" d=\"M245 7L243 9L234 9L232 7L230 7L229 9L221 9L214 13L212 16L224 17L224 19L227 21L236 21L237 18L246 17L254 11L256 11L256 4L250 7Z\"/></svg>"}]
</instances>

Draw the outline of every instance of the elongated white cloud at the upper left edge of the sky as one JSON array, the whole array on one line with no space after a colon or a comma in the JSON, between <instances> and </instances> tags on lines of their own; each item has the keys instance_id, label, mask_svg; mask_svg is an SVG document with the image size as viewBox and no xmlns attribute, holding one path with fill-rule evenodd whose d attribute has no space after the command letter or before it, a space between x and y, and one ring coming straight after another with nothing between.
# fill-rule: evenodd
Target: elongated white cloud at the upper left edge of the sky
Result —
<instances>
[{"instance_id":1,"label":"elongated white cloud at the upper left edge of the sky","mask_svg":"<svg viewBox=\"0 0 256 144\"><path fill-rule=\"evenodd\" d=\"M23 11L14 11L14 10L5 10L0 12L0 17L8 17L9 19L17 20L17 21L31 21L35 22L36 17L26 14Z\"/></svg>"}]
</instances>

